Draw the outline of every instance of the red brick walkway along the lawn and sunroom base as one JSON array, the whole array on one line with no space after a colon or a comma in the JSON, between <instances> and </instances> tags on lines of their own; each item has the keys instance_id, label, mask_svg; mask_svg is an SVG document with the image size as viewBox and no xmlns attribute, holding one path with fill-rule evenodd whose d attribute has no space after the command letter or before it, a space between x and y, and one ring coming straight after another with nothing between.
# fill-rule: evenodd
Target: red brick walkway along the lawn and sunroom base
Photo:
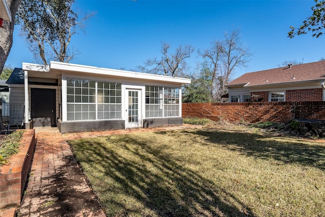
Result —
<instances>
[{"instance_id":1,"label":"red brick walkway along the lawn and sunroom base","mask_svg":"<svg viewBox=\"0 0 325 217\"><path fill-rule=\"evenodd\" d=\"M56 128L36 130L36 150L26 193L18 209L19 216L106 216L88 187L67 140L198 127L183 125L71 134L61 134Z\"/></svg>"}]
</instances>

